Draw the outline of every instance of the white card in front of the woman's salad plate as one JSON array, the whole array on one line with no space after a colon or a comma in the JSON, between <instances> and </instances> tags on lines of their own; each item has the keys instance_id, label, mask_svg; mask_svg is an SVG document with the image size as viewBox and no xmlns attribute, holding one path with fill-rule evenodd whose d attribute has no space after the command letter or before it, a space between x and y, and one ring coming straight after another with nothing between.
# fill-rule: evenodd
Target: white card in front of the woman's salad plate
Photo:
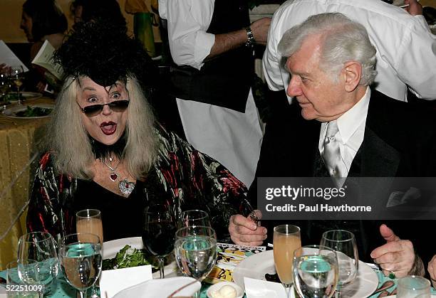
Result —
<instances>
[{"instance_id":1,"label":"white card in front of the woman's salad plate","mask_svg":"<svg viewBox=\"0 0 436 298\"><path fill-rule=\"evenodd\" d=\"M108 298L113 297L122 289L140 284L145 280L152 280L151 265L102 271L100 277L101 297L106 297L106 293Z\"/></svg>"}]
</instances>

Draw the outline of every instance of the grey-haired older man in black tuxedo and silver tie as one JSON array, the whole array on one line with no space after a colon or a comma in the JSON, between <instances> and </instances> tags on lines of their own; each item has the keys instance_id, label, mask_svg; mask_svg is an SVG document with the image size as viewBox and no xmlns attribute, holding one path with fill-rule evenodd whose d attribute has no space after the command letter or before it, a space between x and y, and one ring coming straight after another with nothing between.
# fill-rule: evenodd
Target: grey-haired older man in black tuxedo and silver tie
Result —
<instances>
[{"instance_id":1,"label":"grey-haired older man in black tuxedo and silver tie","mask_svg":"<svg viewBox=\"0 0 436 298\"><path fill-rule=\"evenodd\" d=\"M267 125L256 177L436 176L435 117L369 87L376 50L360 23L339 13L311 16L284 33L279 50L291 74L287 94L296 104L289 117ZM256 198L256 179L250 196ZM352 230L360 257L373 259L386 275L424 272L415 251L428 245L420 240L424 227L412 228L415 223L400 228L400 220L304 220L299 225L302 233L311 231L310 244L325 230ZM267 231L241 215L232 217L229 230L235 243L249 245L259 245Z\"/></svg>"}]
</instances>

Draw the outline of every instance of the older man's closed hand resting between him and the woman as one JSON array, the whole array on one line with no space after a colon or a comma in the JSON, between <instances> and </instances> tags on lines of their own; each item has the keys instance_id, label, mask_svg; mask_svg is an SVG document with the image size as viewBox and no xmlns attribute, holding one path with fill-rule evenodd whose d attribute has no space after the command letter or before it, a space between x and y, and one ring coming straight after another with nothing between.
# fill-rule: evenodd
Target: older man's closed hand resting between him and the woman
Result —
<instances>
[{"instance_id":1,"label":"older man's closed hand resting between him and the woman","mask_svg":"<svg viewBox=\"0 0 436 298\"><path fill-rule=\"evenodd\" d=\"M257 218L261 219L261 212L256 210ZM229 223L229 233L232 241L239 245L261 245L266 239L266 228L259 227L251 220L250 215L232 215Z\"/></svg>"}]
</instances>

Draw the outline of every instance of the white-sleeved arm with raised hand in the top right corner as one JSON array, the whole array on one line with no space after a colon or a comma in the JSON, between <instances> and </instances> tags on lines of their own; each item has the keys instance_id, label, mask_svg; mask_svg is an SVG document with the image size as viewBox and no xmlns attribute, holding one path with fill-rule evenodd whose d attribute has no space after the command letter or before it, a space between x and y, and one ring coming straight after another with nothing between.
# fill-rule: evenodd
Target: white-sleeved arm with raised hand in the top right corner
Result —
<instances>
[{"instance_id":1,"label":"white-sleeved arm with raised hand in the top right corner","mask_svg":"<svg viewBox=\"0 0 436 298\"><path fill-rule=\"evenodd\" d=\"M409 89L419 98L436 100L436 38L422 16L422 6L417 0L405 0L405 8L414 21L408 26L402 43L395 53L393 68Z\"/></svg>"}]
</instances>

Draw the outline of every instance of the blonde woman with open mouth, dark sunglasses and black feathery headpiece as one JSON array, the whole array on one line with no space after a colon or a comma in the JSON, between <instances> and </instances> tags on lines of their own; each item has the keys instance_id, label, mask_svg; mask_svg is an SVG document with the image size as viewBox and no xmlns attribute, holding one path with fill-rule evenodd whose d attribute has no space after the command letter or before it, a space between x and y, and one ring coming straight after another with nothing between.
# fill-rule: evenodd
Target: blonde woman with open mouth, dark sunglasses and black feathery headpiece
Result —
<instances>
[{"instance_id":1,"label":"blonde woman with open mouth, dark sunglasses and black feathery headpiece","mask_svg":"<svg viewBox=\"0 0 436 298\"><path fill-rule=\"evenodd\" d=\"M141 235L142 215L202 209L219 237L248 215L246 187L224 166L155 122L155 67L125 29L78 23L55 59L66 73L28 208L28 230L73 233L76 211L101 211L104 240ZM146 92L143 92L145 90Z\"/></svg>"}]
</instances>

